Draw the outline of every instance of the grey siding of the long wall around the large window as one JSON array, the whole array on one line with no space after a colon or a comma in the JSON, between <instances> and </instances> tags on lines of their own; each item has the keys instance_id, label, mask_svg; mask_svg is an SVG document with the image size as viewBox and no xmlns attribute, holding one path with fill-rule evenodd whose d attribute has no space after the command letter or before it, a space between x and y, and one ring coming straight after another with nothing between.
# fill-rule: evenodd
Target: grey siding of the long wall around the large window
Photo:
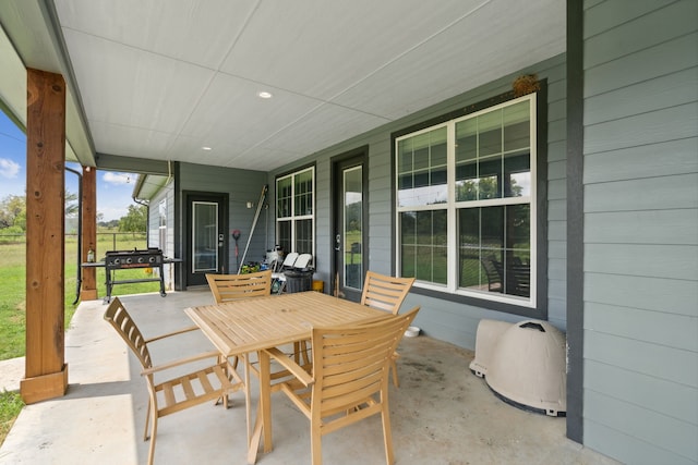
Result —
<instances>
[{"instance_id":1,"label":"grey siding of the long wall around the large window","mask_svg":"<svg viewBox=\"0 0 698 465\"><path fill-rule=\"evenodd\" d=\"M547 315L550 321L565 330L566 327L566 69L565 57L558 56L542 63L532 64L488 85L478 87L440 105L410 114L399 121L382 126L375 131L351 138L337 146L306 157L292 164L269 173L270 198L275 198L275 176L300 167L314 163L316 167L316 264L314 279L329 284L329 266L333 250L330 243L334 236L332 228L332 158L369 146L369 268L371 270L395 273L395 209L393 204L393 132L421 124L433 118L461 110L466 106L481 102L500 94L512 90L512 83L521 74L538 74L540 79L547 79L547 248L549 256L549 295ZM274 212L272 212L274 218ZM274 230L270 230L274 234ZM416 325L425 334L445 340L470 350L474 348L477 327L482 318L507 321L519 321L520 316L505 314L462 303L448 302L410 293L404 304L406 307L421 305ZM462 369L467 369L466 366Z\"/></svg>"}]
</instances>

